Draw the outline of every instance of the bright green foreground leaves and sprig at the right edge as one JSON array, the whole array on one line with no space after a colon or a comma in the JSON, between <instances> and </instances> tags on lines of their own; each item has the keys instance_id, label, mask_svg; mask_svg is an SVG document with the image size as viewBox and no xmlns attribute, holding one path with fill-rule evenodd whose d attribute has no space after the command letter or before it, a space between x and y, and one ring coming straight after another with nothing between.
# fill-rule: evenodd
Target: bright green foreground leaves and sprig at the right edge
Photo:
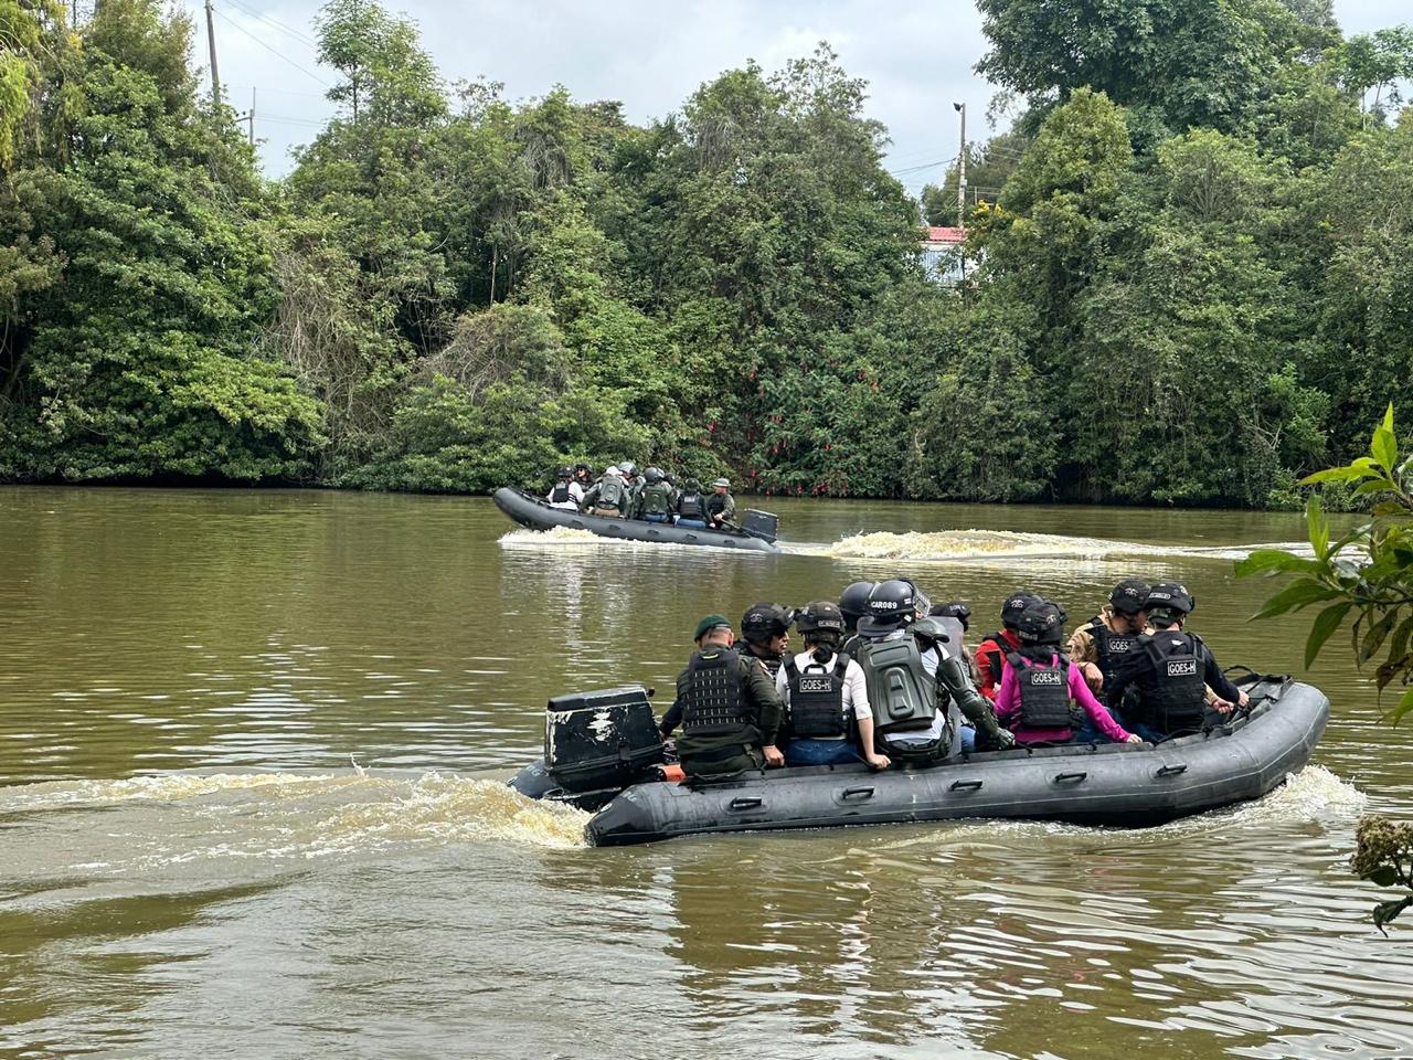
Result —
<instances>
[{"instance_id":1,"label":"bright green foreground leaves and sprig at the right edge","mask_svg":"<svg viewBox=\"0 0 1413 1060\"><path fill-rule=\"evenodd\" d=\"M1379 693L1395 681L1403 688L1385 715L1397 724L1413 712L1413 455L1399 455L1392 406L1373 431L1368 455L1317 472L1304 485L1323 482L1341 483L1355 496L1372 499L1372 522L1331 541L1330 523L1320 500L1311 496L1307 522L1314 557L1260 548L1236 564L1236 575L1296 575L1266 601L1258 619L1324 605L1306 640L1306 667L1354 615L1355 661L1364 666L1383 652L1375 670ZM1354 871L1379 886L1409 892L1373 907L1373 923L1381 929L1413 907L1413 824L1378 817L1361 821Z\"/></svg>"}]
</instances>

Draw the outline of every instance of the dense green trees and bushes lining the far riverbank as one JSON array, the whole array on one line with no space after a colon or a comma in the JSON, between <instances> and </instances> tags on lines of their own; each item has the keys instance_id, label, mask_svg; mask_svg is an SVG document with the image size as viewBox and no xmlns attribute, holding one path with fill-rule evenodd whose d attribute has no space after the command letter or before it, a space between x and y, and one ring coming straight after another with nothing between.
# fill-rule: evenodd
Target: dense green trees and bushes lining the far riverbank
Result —
<instances>
[{"instance_id":1,"label":"dense green trees and bushes lining the far riverbank","mask_svg":"<svg viewBox=\"0 0 1413 1060\"><path fill-rule=\"evenodd\" d=\"M1347 38L1320 0L981 11L1017 113L974 146L992 187L945 285L918 226L955 195L886 172L825 47L640 126L447 85L411 23L331 0L341 112L271 184L182 16L0 0L0 479L487 490L632 457L1270 506L1413 416L1406 30Z\"/></svg>"}]
</instances>

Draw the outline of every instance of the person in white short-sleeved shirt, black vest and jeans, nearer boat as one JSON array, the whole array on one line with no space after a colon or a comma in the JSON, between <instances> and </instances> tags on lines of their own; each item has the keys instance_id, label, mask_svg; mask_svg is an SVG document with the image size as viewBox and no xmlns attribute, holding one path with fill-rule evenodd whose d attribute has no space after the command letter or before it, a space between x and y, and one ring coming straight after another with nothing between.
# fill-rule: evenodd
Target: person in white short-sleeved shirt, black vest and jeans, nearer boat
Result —
<instances>
[{"instance_id":1,"label":"person in white short-sleeved shirt, black vest and jeans, nearer boat","mask_svg":"<svg viewBox=\"0 0 1413 1060\"><path fill-rule=\"evenodd\" d=\"M787 766L828 766L863 760L887 769L887 755L873 746L873 711L869 708L863 669L839 650L844 615L834 601L807 603L796 618L804 652L786 656L776 674L776 691L786 709L790 741ZM858 736L858 748L851 736Z\"/></svg>"}]
</instances>

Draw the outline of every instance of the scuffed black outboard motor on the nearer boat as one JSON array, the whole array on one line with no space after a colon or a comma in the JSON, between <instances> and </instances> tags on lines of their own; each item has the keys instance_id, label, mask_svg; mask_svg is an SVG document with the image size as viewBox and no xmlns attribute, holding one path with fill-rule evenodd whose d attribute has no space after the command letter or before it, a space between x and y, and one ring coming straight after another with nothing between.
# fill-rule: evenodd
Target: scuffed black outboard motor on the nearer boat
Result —
<instances>
[{"instance_id":1,"label":"scuffed black outboard motor on the nearer boat","mask_svg":"<svg viewBox=\"0 0 1413 1060\"><path fill-rule=\"evenodd\" d=\"M642 685L557 695L545 707L544 762L568 793L617 791L663 762L663 736Z\"/></svg>"}]
</instances>

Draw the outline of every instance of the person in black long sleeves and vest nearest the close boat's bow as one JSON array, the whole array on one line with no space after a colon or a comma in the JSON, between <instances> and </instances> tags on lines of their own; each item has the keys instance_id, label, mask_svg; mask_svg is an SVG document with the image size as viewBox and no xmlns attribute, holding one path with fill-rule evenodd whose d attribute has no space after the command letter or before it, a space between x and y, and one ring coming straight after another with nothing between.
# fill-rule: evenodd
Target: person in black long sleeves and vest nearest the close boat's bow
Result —
<instances>
[{"instance_id":1,"label":"person in black long sleeves and vest nearest the close boat's bow","mask_svg":"<svg viewBox=\"0 0 1413 1060\"><path fill-rule=\"evenodd\" d=\"M1197 601L1177 582L1160 582L1143 601L1152 633L1140 633L1109 683L1105 698L1111 709L1123 707L1129 729L1149 741L1197 732L1207 724L1208 707L1218 718L1248 697L1226 680L1211 649L1197 633L1183 629ZM1125 704L1125 693L1137 695ZM1217 695L1210 701L1205 690Z\"/></svg>"}]
</instances>

